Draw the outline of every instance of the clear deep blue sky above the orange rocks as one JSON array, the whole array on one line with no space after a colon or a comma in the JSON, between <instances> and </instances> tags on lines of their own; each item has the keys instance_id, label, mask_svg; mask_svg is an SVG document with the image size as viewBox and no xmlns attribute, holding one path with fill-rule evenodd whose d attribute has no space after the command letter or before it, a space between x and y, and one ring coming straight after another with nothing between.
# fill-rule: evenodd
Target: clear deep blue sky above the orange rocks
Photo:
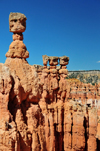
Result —
<instances>
[{"instance_id":1,"label":"clear deep blue sky above the orange rocks","mask_svg":"<svg viewBox=\"0 0 100 151\"><path fill-rule=\"evenodd\" d=\"M26 15L29 64L42 55L70 58L68 70L100 70L100 0L0 0L0 62L12 42L10 12Z\"/></svg>"}]
</instances>

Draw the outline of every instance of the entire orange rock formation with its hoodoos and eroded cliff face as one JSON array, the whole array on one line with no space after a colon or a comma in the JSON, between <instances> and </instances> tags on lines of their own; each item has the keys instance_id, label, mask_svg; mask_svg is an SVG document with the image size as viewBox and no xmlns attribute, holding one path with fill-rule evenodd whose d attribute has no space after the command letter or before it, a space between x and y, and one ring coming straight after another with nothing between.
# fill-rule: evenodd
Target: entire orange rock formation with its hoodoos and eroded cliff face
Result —
<instances>
[{"instance_id":1,"label":"entire orange rock formation with its hoodoos and eroded cliff face","mask_svg":"<svg viewBox=\"0 0 100 151\"><path fill-rule=\"evenodd\" d=\"M11 13L9 23L13 42L0 64L0 151L100 151L100 85L67 80L67 56L44 55L43 67L29 65L26 17Z\"/></svg>"}]
</instances>

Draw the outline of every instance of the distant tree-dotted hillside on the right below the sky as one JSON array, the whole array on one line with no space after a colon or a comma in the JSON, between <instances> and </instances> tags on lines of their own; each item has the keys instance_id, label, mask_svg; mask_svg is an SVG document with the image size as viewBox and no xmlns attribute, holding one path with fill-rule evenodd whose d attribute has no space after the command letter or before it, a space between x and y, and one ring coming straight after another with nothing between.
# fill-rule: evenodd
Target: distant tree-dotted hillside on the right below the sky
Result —
<instances>
[{"instance_id":1,"label":"distant tree-dotted hillside on the right below the sky","mask_svg":"<svg viewBox=\"0 0 100 151\"><path fill-rule=\"evenodd\" d=\"M99 83L100 82L100 70L80 70L80 71L69 71L68 77L79 79L84 83Z\"/></svg>"}]
</instances>

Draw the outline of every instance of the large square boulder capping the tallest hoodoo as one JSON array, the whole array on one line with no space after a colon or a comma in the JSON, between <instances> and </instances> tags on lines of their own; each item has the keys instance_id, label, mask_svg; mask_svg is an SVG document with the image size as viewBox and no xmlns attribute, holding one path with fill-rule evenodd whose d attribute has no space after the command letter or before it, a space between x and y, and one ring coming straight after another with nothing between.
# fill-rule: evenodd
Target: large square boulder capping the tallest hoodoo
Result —
<instances>
[{"instance_id":1,"label":"large square boulder capping the tallest hoodoo","mask_svg":"<svg viewBox=\"0 0 100 151\"><path fill-rule=\"evenodd\" d=\"M26 16L22 13L10 13L9 28L10 32L24 32L26 29Z\"/></svg>"}]
</instances>

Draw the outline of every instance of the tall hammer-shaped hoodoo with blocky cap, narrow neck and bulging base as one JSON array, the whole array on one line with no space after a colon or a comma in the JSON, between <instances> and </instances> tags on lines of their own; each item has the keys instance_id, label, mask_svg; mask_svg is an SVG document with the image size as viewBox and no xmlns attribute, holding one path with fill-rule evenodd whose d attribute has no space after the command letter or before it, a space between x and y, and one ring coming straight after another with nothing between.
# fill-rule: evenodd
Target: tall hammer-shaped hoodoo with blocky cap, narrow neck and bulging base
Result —
<instances>
[{"instance_id":1,"label":"tall hammer-shaped hoodoo with blocky cap, narrow neck and bulging base","mask_svg":"<svg viewBox=\"0 0 100 151\"><path fill-rule=\"evenodd\" d=\"M26 16L21 13L10 13L9 29L13 32L13 42L9 46L6 57L10 58L28 58L29 52L23 43L23 32L26 29Z\"/></svg>"}]
</instances>

